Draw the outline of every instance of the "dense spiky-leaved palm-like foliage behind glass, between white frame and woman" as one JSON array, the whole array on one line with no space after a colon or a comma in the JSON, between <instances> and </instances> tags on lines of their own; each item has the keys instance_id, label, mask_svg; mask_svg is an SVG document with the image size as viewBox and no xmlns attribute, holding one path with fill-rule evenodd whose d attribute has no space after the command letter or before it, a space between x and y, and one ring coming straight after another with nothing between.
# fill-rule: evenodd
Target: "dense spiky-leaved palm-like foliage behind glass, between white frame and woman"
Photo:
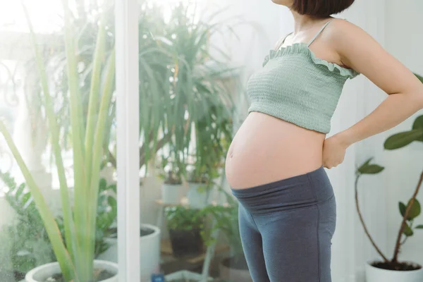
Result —
<instances>
[{"instance_id":1,"label":"dense spiky-leaved palm-like foliage behind glass, between white frame and woman","mask_svg":"<svg viewBox=\"0 0 423 282\"><path fill-rule=\"evenodd\" d=\"M152 1L145 1L141 11L140 168L168 146L185 173L192 128L199 161L213 155L222 135L231 139L233 102L223 80L233 68L211 56L209 40L223 23L195 22L182 1L167 21Z\"/></svg>"}]
</instances>

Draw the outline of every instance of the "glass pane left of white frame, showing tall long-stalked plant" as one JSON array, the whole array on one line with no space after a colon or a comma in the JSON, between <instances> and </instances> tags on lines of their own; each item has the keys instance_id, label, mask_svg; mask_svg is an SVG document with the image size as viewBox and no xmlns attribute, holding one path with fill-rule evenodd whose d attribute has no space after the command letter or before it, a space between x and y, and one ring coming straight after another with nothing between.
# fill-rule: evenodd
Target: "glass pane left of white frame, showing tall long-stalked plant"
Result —
<instances>
[{"instance_id":1,"label":"glass pane left of white frame, showing tall long-stalked plant","mask_svg":"<svg viewBox=\"0 0 423 282\"><path fill-rule=\"evenodd\" d=\"M114 6L63 3L0 4L2 282L117 281Z\"/></svg>"}]
</instances>

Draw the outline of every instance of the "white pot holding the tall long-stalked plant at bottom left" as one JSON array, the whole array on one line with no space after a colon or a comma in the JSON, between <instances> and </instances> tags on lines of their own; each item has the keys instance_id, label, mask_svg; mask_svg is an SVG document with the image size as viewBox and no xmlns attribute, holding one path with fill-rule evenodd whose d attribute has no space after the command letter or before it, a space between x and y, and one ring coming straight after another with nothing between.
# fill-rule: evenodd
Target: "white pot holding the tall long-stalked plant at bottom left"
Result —
<instances>
[{"instance_id":1,"label":"white pot holding the tall long-stalked plant at bottom left","mask_svg":"<svg viewBox=\"0 0 423 282\"><path fill-rule=\"evenodd\" d=\"M102 282L118 282L118 264L114 262L105 262L102 260L94 260L94 269L106 269L114 274L113 277ZM25 276L26 282L44 282L47 278L53 276L54 274L61 273L59 262L52 262L51 264L44 264L38 266L35 269L32 269Z\"/></svg>"}]
</instances>

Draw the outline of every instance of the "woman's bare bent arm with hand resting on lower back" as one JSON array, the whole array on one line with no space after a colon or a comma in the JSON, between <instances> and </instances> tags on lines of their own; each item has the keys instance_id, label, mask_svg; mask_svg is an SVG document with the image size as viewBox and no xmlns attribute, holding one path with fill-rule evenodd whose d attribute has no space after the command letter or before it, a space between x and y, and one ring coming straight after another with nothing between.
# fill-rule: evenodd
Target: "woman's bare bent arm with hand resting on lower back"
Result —
<instances>
[{"instance_id":1,"label":"woman's bare bent arm with hand resting on lower back","mask_svg":"<svg viewBox=\"0 0 423 282\"><path fill-rule=\"evenodd\" d=\"M325 140L324 166L328 168L343 161L342 149L393 128L423 109L423 84L403 63L360 27L345 20L334 23L331 40L343 64L365 75L388 97L361 121Z\"/></svg>"}]
</instances>

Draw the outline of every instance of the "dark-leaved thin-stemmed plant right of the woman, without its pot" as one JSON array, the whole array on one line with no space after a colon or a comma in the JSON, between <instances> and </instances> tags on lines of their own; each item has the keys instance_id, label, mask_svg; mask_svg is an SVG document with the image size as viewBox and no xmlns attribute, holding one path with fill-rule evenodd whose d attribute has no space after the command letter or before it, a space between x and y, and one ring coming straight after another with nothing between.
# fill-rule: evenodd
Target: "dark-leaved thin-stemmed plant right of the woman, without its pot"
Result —
<instances>
[{"instance_id":1,"label":"dark-leaved thin-stemmed plant right of the woman, without its pot","mask_svg":"<svg viewBox=\"0 0 423 282\"><path fill-rule=\"evenodd\" d=\"M419 116L415 119L415 122L412 125L412 130L403 132L403 133L397 133L395 135L392 135L391 137L388 137L384 143L385 149L392 150L392 149L399 149L402 147L405 147L406 145L409 145L411 142L423 142L423 116ZM399 212L402 217L402 222L398 231L398 236L396 239L396 245L394 247L393 251L393 257L392 259L388 259L386 255L384 255L383 252L377 247L376 243L374 242L374 239L369 234L369 231L367 229L366 224L364 223L364 219L362 218L362 214L360 211L360 206L358 203L358 180L361 176L364 174L376 174L380 173L384 170L384 167L379 166L377 164L370 164L370 161L372 159L368 159L367 161L362 164L359 168L357 168L356 171L356 178L355 178L355 202L357 207L358 215L360 216L360 221L362 223L362 226L364 228L364 231L369 238L370 242L376 249L376 251L379 253L381 258L384 260L381 264L379 264L380 268L386 268L386 269L392 269L392 270L407 270L407 269L413 269L413 266L410 266L409 264L398 262L398 255L400 253L401 247L404 245L404 243L407 241L408 238L410 238L415 231L418 229L423 229L423 225L415 225L415 219L417 216L420 215L421 207L420 203L417 200L417 195L419 193L419 190L422 186L423 182L423 172L421 173L419 180L417 182L417 186L415 188L415 192L413 193L411 199L407 202L407 204L404 204L403 202L399 202ZM375 265L376 266L376 265Z\"/></svg>"}]
</instances>

